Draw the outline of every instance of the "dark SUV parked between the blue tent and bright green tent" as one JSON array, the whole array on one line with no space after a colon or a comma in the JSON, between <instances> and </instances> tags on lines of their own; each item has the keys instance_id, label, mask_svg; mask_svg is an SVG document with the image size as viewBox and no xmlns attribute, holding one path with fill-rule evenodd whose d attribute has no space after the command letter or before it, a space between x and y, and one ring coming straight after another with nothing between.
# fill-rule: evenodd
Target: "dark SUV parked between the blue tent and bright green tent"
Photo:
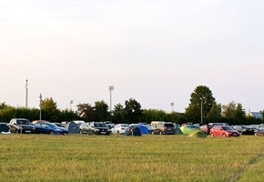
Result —
<instances>
[{"instance_id":1,"label":"dark SUV parked between the blue tent and bright green tent","mask_svg":"<svg viewBox=\"0 0 264 182\"><path fill-rule=\"evenodd\" d=\"M159 123L156 127L153 127L153 135L175 135L176 127L173 123Z\"/></svg>"}]
</instances>

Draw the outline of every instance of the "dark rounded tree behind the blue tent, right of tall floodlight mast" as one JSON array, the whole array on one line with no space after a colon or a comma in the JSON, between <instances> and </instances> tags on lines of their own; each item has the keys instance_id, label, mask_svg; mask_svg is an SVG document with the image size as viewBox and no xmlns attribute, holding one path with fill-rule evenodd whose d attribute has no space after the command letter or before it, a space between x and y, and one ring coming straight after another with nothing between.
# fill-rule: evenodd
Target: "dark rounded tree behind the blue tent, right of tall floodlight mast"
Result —
<instances>
[{"instance_id":1,"label":"dark rounded tree behind the blue tent, right of tall floodlight mast","mask_svg":"<svg viewBox=\"0 0 264 182\"><path fill-rule=\"evenodd\" d=\"M126 100L124 114L127 123L140 122L142 116L141 105L135 99L130 98L129 100Z\"/></svg>"}]
</instances>

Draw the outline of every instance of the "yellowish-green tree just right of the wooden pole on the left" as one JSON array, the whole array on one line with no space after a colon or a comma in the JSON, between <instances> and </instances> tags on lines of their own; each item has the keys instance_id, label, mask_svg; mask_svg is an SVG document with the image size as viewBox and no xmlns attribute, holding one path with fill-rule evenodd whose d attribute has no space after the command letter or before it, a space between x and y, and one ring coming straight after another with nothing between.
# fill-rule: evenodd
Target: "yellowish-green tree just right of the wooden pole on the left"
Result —
<instances>
[{"instance_id":1,"label":"yellowish-green tree just right of the wooden pole on the left","mask_svg":"<svg viewBox=\"0 0 264 182\"><path fill-rule=\"evenodd\" d=\"M56 102L52 97L44 99L41 104L42 119L57 122L59 121L59 110L57 109Z\"/></svg>"}]
</instances>

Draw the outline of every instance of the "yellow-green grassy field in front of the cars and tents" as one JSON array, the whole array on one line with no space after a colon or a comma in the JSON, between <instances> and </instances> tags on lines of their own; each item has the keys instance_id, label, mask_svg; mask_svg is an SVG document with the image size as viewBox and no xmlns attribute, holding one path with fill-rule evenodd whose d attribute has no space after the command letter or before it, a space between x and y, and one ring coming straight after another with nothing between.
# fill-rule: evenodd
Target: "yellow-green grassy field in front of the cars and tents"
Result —
<instances>
[{"instance_id":1,"label":"yellow-green grassy field in front of the cars and tents","mask_svg":"<svg viewBox=\"0 0 264 182\"><path fill-rule=\"evenodd\" d=\"M0 181L264 181L261 136L0 139Z\"/></svg>"}]
</instances>

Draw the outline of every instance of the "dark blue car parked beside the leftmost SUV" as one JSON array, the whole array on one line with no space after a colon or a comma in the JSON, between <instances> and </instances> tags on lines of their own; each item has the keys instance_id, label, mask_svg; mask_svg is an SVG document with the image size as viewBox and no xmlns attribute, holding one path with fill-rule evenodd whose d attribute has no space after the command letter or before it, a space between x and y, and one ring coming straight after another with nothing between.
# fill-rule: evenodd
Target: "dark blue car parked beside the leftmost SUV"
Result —
<instances>
[{"instance_id":1,"label":"dark blue car parked beside the leftmost SUV","mask_svg":"<svg viewBox=\"0 0 264 182\"><path fill-rule=\"evenodd\" d=\"M34 124L36 127L36 134L50 134L50 135L67 135L68 130L65 127L56 126L50 122L38 122Z\"/></svg>"}]
</instances>

